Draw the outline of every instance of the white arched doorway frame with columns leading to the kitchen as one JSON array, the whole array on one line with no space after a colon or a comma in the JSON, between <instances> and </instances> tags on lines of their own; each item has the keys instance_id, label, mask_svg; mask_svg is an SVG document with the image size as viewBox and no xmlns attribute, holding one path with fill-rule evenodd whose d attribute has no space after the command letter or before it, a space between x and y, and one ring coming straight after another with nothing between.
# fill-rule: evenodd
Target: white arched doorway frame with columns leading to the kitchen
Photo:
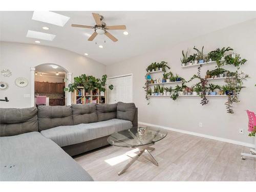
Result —
<instances>
[{"instance_id":1,"label":"white arched doorway frame with columns leading to the kitchen","mask_svg":"<svg viewBox=\"0 0 256 192\"><path fill-rule=\"evenodd\" d=\"M55 63L41 63L33 68L30 68L30 71L31 71L31 106L34 106L35 105L35 84L34 84L34 81L35 81L35 72L36 72L36 68L41 68L41 67L44 67L45 65L50 65L50 66L54 66L54 67L57 67L57 69L53 69L53 71L63 71L65 72L65 78L68 79L68 81L65 83L65 87L68 86L68 82L71 82L72 81L72 73L70 73L67 69L63 68L62 66L60 65L57 65ZM71 93L69 92L65 92L65 105L71 105Z\"/></svg>"}]
</instances>

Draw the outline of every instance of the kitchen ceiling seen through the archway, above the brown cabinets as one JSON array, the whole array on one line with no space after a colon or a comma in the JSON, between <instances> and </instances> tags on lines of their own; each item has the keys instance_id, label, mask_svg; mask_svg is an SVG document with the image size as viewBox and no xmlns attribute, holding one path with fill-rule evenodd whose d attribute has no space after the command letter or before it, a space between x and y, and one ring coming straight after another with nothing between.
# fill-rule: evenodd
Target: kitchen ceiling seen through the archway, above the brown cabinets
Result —
<instances>
[{"instance_id":1,"label":"kitchen ceiling seen through the archway, above the brown cabinets","mask_svg":"<svg viewBox=\"0 0 256 192\"><path fill-rule=\"evenodd\" d=\"M39 66L35 67L35 72L39 75L40 73L48 76L55 76L55 77L65 77L66 71L63 70L61 67L58 67L57 69L53 69L51 63L45 63ZM56 72L59 73L59 75L56 75Z\"/></svg>"}]
</instances>

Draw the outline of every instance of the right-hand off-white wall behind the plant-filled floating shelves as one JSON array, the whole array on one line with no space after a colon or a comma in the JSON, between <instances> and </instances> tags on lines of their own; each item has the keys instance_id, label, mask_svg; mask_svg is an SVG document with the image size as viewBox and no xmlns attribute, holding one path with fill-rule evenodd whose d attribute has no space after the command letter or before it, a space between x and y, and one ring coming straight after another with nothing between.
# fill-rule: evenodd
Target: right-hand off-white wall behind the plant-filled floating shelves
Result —
<instances>
[{"instance_id":1,"label":"right-hand off-white wall behind the plant-filled floating shelves","mask_svg":"<svg viewBox=\"0 0 256 192\"><path fill-rule=\"evenodd\" d=\"M141 122L253 143L253 139L247 136L248 121L244 110L256 111L256 87L254 87L256 83L255 26L256 19L182 42L168 49L156 50L134 57L107 66L106 74L111 77L133 73L133 101L138 107L139 121ZM203 28L203 26L201 27ZM218 47L230 46L243 58L248 59L247 64L241 69L249 74L250 78L244 83L246 88L240 94L241 102L234 104L235 114L226 113L224 105L226 98L209 98L209 103L204 106L200 104L200 98L180 97L176 101L170 98L151 98L151 104L147 105L142 88L145 82L146 67L155 61L167 61L174 74L180 74L188 79L197 73L197 67L181 69L181 51L187 48L192 50L194 46L198 48L204 46L205 53ZM214 66L202 67L203 75L205 75L207 69L212 70ZM157 77L157 74L155 77ZM212 81L212 83L217 82ZM203 127L199 127L199 122L203 123ZM244 135L239 134L239 128L244 128Z\"/></svg>"}]
</instances>

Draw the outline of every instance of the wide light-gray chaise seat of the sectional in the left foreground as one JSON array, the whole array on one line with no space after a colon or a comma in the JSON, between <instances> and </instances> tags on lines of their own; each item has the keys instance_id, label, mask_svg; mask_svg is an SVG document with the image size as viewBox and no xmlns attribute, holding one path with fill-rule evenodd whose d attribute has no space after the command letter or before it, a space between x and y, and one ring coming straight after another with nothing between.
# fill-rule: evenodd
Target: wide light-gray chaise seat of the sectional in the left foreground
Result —
<instances>
[{"instance_id":1,"label":"wide light-gray chaise seat of the sectional in the left foreground","mask_svg":"<svg viewBox=\"0 0 256 192\"><path fill-rule=\"evenodd\" d=\"M0 137L0 181L93 181L72 157L38 132Z\"/></svg>"}]
</instances>

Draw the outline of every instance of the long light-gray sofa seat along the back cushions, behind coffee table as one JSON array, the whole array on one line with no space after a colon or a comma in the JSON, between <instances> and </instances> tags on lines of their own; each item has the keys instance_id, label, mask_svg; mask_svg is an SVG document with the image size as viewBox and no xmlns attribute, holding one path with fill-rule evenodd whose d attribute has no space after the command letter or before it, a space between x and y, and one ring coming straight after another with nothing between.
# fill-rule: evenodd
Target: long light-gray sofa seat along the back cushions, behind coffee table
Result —
<instances>
[{"instance_id":1,"label":"long light-gray sofa seat along the back cushions, behind coffee table","mask_svg":"<svg viewBox=\"0 0 256 192\"><path fill-rule=\"evenodd\" d=\"M110 119L95 123L82 123L73 126L58 126L41 131L46 138L53 140L59 146L89 141L111 135L115 132L130 129L132 122L122 119Z\"/></svg>"}]
</instances>

